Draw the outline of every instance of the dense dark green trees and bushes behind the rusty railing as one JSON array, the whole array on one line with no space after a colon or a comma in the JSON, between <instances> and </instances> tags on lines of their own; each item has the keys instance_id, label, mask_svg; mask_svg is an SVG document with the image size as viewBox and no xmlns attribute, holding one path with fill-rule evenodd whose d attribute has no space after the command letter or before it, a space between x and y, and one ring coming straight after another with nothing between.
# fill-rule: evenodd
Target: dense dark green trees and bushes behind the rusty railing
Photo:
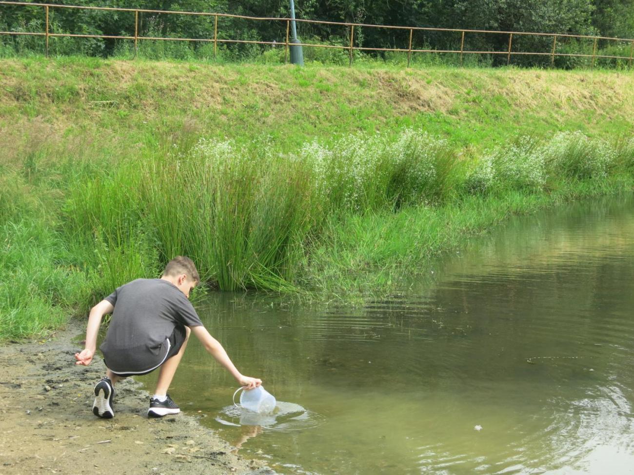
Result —
<instances>
[{"instance_id":1,"label":"dense dark green trees and bushes behind the rusty railing","mask_svg":"<svg viewBox=\"0 0 634 475\"><path fill-rule=\"evenodd\" d=\"M247 16L287 18L287 0L61 0L59 4L141 8L172 11L201 11L231 13ZM415 27L469 28L502 31L549 32L557 34L609 35L634 37L634 0L398 0L370 2L366 0L299 0L295 5L297 18L329 22L356 22L372 25L404 25ZM51 9L53 32L75 34L133 35L134 14L113 11ZM44 13L41 7L0 8L0 29L12 31L42 31ZM143 13L139 16L139 35L157 37L213 37L212 16L161 15ZM349 30L338 25L299 23L299 35L304 41L349 44ZM240 18L220 18L218 34L221 39L285 41L284 22L256 22ZM460 34L456 32L416 32L413 46L418 49L460 49ZM26 49L41 49L41 39L34 37L3 37L1 41L18 43ZM358 27L354 34L355 46L389 48L408 47L407 30ZM590 53L592 40L579 42L560 38L557 51L561 53ZM99 56L120 54L129 45L108 39L55 39L56 53L84 53ZM514 51L550 51L551 37L516 36ZM15 46L15 45L14 45ZM179 45L181 47L182 45ZM187 49L209 49L209 43L190 44ZM505 51L507 35L469 34L465 49L472 51ZM629 56L630 44L602 41L598 44L605 54ZM182 49L182 48L181 48ZM178 47L176 48L178 50ZM260 54L262 47L227 44L224 51L240 56ZM622 50L622 51L621 51ZM175 50L174 50L175 51ZM183 53L165 56L186 56ZM620 52L620 53L619 53ZM385 53L377 53L385 56ZM560 57L559 66L576 66L573 58ZM494 56L490 63L506 63L503 55ZM517 56L514 63L524 65L550 64L548 56Z\"/></svg>"}]
</instances>

